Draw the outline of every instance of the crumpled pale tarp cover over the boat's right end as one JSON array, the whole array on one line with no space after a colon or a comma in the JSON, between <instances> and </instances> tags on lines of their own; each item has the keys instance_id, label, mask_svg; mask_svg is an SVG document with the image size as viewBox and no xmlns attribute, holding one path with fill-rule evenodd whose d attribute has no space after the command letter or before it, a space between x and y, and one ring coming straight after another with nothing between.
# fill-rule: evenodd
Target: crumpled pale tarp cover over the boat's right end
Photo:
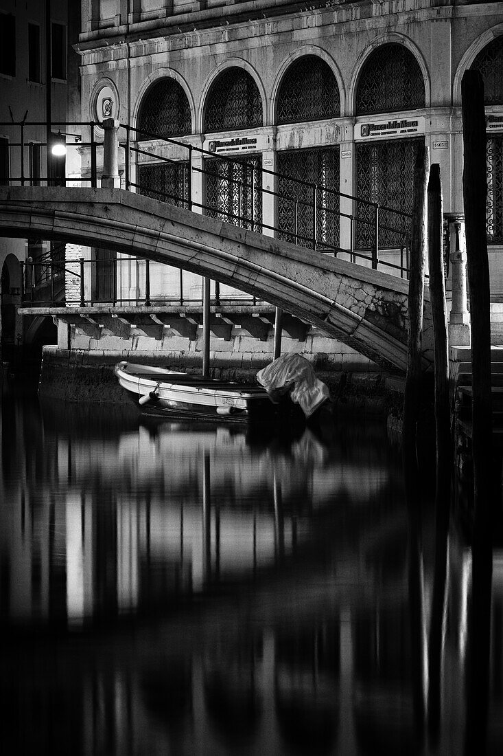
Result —
<instances>
[{"instance_id":1,"label":"crumpled pale tarp cover over the boat's right end","mask_svg":"<svg viewBox=\"0 0 503 756\"><path fill-rule=\"evenodd\" d=\"M257 380L275 397L289 392L295 404L300 404L306 417L310 417L323 401L330 398L329 387L319 378L310 362L301 355L282 355L257 373Z\"/></svg>"}]
</instances>

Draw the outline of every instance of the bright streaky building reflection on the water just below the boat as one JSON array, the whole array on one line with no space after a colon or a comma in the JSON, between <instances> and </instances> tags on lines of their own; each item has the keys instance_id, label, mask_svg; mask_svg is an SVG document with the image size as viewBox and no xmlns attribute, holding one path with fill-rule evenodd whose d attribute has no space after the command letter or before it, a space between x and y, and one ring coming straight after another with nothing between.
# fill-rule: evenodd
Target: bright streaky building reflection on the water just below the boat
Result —
<instances>
[{"instance_id":1,"label":"bright streaky building reflection on the water just below the boat","mask_svg":"<svg viewBox=\"0 0 503 756\"><path fill-rule=\"evenodd\" d=\"M387 484L372 438L363 470L310 432L264 444L231 428L64 414L4 402L6 618L79 625L160 609L278 564L310 538L314 510Z\"/></svg>"}]
</instances>

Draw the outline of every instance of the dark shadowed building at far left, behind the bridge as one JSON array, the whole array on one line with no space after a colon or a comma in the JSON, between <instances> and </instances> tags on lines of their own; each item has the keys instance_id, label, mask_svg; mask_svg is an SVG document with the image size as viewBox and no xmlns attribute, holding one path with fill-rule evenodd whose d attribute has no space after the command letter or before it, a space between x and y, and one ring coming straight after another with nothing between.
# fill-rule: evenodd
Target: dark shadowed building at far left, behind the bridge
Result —
<instances>
[{"instance_id":1,"label":"dark shadowed building at far left, behind the bridge","mask_svg":"<svg viewBox=\"0 0 503 756\"><path fill-rule=\"evenodd\" d=\"M0 184L39 186L55 181L47 172L47 144L65 132L64 124L80 111L79 58L70 43L80 27L80 8L67 0L15 0L0 10ZM25 124L21 127L21 124ZM71 161L68 156L67 172ZM79 161L80 163L80 161ZM54 167L54 166L53 166ZM74 171L76 172L76 171ZM64 258L40 238L0 238L2 271L2 358L13 358L13 347L24 341L54 340L51 319L29 321L17 314L26 283L43 290L48 281L42 262L27 271L26 260ZM29 280L28 280L29 279ZM27 337L27 339L26 339Z\"/></svg>"}]
</instances>

